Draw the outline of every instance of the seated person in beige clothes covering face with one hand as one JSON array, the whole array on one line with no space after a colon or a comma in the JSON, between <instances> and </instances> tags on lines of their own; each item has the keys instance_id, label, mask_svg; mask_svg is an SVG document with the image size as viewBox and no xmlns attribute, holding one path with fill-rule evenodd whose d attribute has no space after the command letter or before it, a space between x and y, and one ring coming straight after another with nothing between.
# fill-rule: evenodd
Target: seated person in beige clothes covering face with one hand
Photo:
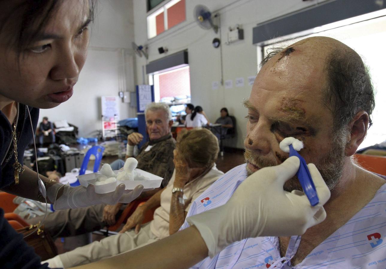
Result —
<instances>
[{"instance_id":1,"label":"seated person in beige clothes covering face with one hand","mask_svg":"<svg viewBox=\"0 0 386 269\"><path fill-rule=\"evenodd\" d=\"M185 221L190 204L224 173L217 170L216 137L208 129L183 130L178 134L174 172L168 186L137 207L117 235L106 237L46 262L74 267L130 251L174 234ZM154 219L142 224L147 210L156 208ZM60 261L59 261L60 260Z\"/></svg>"}]
</instances>

